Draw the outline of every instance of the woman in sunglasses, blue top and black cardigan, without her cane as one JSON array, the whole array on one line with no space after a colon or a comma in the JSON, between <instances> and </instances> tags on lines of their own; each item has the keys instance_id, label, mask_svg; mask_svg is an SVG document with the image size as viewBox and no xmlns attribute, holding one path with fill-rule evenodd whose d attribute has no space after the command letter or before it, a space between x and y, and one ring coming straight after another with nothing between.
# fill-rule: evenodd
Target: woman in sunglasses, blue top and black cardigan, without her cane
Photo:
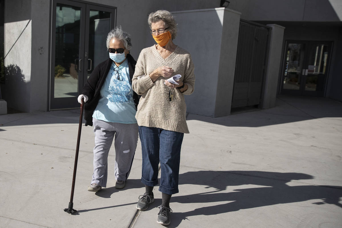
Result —
<instances>
[{"instance_id":1,"label":"woman in sunglasses, blue top and black cardigan, without her cane","mask_svg":"<svg viewBox=\"0 0 342 228\"><path fill-rule=\"evenodd\" d=\"M139 97L132 90L136 61L129 54L131 36L117 27L108 33L106 44L109 58L95 67L78 97L78 102L82 98L86 102L86 126L94 125L94 173L88 187L94 192L106 187L108 153L114 138L115 187L125 186L138 140L135 113Z\"/></svg>"}]
</instances>

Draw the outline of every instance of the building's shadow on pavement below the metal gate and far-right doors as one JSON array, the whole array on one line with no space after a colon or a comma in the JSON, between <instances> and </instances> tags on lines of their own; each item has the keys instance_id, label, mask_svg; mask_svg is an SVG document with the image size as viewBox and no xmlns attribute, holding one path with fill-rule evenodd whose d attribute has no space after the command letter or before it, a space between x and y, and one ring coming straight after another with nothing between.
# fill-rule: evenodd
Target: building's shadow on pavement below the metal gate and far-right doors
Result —
<instances>
[{"instance_id":1,"label":"building's shadow on pavement below the metal gate and far-right doors","mask_svg":"<svg viewBox=\"0 0 342 228\"><path fill-rule=\"evenodd\" d=\"M318 118L342 118L342 103L323 97L279 95L273 108L216 118L189 113L186 120L224 126L260 127Z\"/></svg>"}]
</instances>

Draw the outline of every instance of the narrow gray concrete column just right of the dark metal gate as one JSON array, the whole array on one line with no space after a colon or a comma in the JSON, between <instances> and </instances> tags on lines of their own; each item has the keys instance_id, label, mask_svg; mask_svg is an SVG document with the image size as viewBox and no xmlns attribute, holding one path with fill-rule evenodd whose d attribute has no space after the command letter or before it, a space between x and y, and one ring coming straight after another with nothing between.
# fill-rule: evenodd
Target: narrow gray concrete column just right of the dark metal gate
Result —
<instances>
[{"instance_id":1,"label":"narrow gray concrete column just right of the dark metal gate","mask_svg":"<svg viewBox=\"0 0 342 228\"><path fill-rule=\"evenodd\" d=\"M277 83L281 67L282 41L285 29L285 27L276 24L267 26L271 27L272 30L261 108L272 108L276 105Z\"/></svg>"}]
</instances>

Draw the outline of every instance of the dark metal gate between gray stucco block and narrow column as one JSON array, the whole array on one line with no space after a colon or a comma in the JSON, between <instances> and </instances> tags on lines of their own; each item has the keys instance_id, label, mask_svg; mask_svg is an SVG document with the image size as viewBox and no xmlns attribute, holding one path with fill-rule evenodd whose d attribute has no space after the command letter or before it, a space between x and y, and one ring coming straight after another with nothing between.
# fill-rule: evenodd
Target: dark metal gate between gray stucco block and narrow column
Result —
<instances>
[{"instance_id":1,"label":"dark metal gate between gray stucco block and narrow column","mask_svg":"<svg viewBox=\"0 0 342 228\"><path fill-rule=\"evenodd\" d=\"M270 29L240 21L232 108L260 104Z\"/></svg>"}]
</instances>

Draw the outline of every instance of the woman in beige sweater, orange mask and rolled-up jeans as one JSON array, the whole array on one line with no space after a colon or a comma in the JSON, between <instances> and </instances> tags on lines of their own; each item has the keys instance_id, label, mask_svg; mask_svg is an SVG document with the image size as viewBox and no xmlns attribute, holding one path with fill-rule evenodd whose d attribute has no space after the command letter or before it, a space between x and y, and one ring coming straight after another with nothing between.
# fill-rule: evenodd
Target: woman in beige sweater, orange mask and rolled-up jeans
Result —
<instances>
[{"instance_id":1,"label":"woman in beige sweater, orange mask and rolled-up jeans","mask_svg":"<svg viewBox=\"0 0 342 228\"><path fill-rule=\"evenodd\" d=\"M190 53L173 43L177 24L170 12L158 10L151 13L148 24L157 44L141 51L132 79L133 90L141 95L135 118L142 146L141 181L146 188L136 208L144 211L154 201L152 191L158 184L160 162L162 204L157 222L169 225L170 198L179 192L183 135L189 133L184 95L194 92L194 64ZM167 81L175 75L181 75L177 84Z\"/></svg>"}]
</instances>

